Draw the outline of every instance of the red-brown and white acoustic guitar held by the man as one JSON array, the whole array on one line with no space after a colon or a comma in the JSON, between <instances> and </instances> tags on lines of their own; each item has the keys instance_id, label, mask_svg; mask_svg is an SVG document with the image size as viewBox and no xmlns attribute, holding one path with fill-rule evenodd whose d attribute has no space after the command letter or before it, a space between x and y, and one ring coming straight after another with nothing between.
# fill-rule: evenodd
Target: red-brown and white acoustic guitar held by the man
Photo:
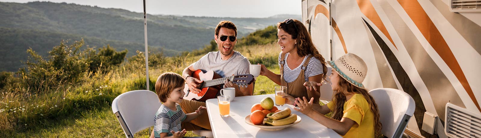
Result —
<instances>
[{"instance_id":1,"label":"red-brown and white acoustic guitar held by the man","mask_svg":"<svg viewBox=\"0 0 481 138\"><path fill-rule=\"evenodd\" d=\"M200 102L205 102L205 100L215 98L215 95L217 95L217 92L219 92L219 90L222 89L221 84L224 84L224 81L226 79L228 79L229 81L232 81L234 84L237 84L239 86L247 86L254 81L254 76L251 74L236 75L236 76L222 78L219 74L215 73L213 70L209 70L203 73L203 71L199 69L194 71L194 73L192 73L191 76L203 81L200 84L200 86L197 87L202 91L197 94L190 92L189 86L185 84L184 92L186 94L184 96L184 99L200 101Z\"/></svg>"}]
</instances>

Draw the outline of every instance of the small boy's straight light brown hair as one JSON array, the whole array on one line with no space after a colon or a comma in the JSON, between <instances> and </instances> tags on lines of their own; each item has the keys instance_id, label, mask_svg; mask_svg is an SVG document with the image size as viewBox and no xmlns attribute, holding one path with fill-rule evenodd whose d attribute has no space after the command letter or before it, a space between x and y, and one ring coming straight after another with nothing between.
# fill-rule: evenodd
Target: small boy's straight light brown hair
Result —
<instances>
[{"instance_id":1,"label":"small boy's straight light brown hair","mask_svg":"<svg viewBox=\"0 0 481 138\"><path fill-rule=\"evenodd\" d=\"M155 82L155 93L157 93L160 102L165 103L167 98L169 98L170 92L176 88L183 87L184 83L185 79L177 73L162 73Z\"/></svg>"}]
</instances>

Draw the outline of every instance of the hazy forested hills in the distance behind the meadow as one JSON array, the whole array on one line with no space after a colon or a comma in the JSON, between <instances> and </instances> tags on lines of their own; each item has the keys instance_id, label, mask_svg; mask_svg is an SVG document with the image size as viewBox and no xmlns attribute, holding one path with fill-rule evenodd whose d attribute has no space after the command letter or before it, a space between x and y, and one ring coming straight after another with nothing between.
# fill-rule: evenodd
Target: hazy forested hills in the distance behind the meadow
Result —
<instances>
[{"instance_id":1,"label":"hazy forested hills in the distance behind the meadow","mask_svg":"<svg viewBox=\"0 0 481 138\"><path fill-rule=\"evenodd\" d=\"M219 21L234 22L241 37L286 18L301 16L224 18L149 14L149 47L174 56L209 45ZM143 13L67 3L0 2L0 19L0 71L21 68L20 61L26 60L28 47L45 56L62 39L84 38L86 44L97 47L110 44L117 50L128 49L127 56L134 55L136 50L144 51Z\"/></svg>"}]
</instances>

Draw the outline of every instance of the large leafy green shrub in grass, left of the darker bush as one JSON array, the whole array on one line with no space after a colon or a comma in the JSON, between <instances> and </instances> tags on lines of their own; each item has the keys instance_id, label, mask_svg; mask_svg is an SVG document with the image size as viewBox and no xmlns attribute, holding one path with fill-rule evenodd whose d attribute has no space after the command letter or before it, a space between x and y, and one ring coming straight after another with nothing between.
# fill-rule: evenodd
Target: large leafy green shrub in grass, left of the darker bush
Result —
<instances>
[{"instance_id":1,"label":"large leafy green shrub in grass, left of the darker bush","mask_svg":"<svg viewBox=\"0 0 481 138\"><path fill-rule=\"evenodd\" d=\"M94 50L86 48L80 50L84 41L75 41L72 45L67 45L67 41L62 40L59 46L54 46L49 52L49 56L43 58L31 48L27 50L30 54L25 69L20 69L23 83L28 87L35 88L38 92L46 91L50 88L64 83L76 83L89 69L90 60L87 58Z\"/></svg>"}]
</instances>

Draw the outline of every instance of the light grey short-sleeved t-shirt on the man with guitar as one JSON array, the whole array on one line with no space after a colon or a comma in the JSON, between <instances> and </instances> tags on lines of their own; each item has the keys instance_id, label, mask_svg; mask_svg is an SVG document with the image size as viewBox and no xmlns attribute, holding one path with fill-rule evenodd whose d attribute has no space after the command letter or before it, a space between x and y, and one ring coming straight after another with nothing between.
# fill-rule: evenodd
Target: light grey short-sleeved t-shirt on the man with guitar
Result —
<instances>
[{"instance_id":1,"label":"light grey short-sleeved t-shirt on the man with guitar","mask_svg":"<svg viewBox=\"0 0 481 138\"><path fill-rule=\"evenodd\" d=\"M204 57L195 62L192 68L201 69L203 72L214 70L221 77L229 77L239 74L248 74L251 63L241 53L234 51L234 55L227 60L220 58L220 51L209 52Z\"/></svg>"}]
</instances>

